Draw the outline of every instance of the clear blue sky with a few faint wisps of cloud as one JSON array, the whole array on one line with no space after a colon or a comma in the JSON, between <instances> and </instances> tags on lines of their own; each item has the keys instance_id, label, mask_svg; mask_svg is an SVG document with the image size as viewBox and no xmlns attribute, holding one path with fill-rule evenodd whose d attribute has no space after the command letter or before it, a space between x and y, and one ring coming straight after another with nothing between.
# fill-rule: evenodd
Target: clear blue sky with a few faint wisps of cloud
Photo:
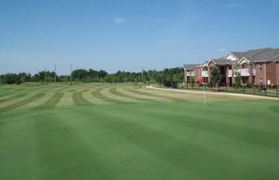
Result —
<instances>
[{"instance_id":1,"label":"clear blue sky with a few faint wisps of cloud","mask_svg":"<svg viewBox=\"0 0 279 180\"><path fill-rule=\"evenodd\" d=\"M279 47L279 0L0 1L0 74L182 67Z\"/></svg>"}]
</instances>

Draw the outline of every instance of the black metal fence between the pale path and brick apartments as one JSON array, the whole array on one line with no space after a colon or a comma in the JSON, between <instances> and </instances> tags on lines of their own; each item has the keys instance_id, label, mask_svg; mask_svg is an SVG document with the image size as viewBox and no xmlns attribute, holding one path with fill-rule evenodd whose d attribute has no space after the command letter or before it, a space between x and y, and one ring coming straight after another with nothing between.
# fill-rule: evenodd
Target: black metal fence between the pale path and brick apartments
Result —
<instances>
[{"instance_id":1,"label":"black metal fence between the pale path and brick apartments","mask_svg":"<svg viewBox=\"0 0 279 180\"><path fill-rule=\"evenodd\" d=\"M166 81L163 83L166 87L179 89L195 89L206 91L223 91L250 95L262 95L270 97L279 97L279 85L256 85L256 84L226 84L226 83L192 83Z\"/></svg>"}]
</instances>

